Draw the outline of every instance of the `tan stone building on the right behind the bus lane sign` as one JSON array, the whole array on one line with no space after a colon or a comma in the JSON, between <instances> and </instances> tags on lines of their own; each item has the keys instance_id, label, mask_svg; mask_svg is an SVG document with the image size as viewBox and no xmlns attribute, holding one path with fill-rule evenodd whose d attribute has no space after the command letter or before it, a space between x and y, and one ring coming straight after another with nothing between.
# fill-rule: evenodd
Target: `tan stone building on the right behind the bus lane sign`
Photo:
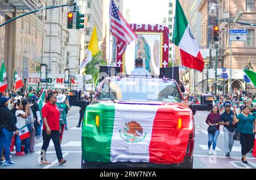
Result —
<instances>
[{"instance_id":1,"label":"tan stone building on the right behind the bus lane sign","mask_svg":"<svg viewBox=\"0 0 256 180\"><path fill-rule=\"evenodd\" d=\"M215 5L209 5L209 3L215 3ZM254 0L230 0L230 1L202 1L198 10L202 14L201 22L202 22L202 46L208 46L209 49L209 64L210 67L207 70L205 67L205 72L208 71L208 81L207 76L203 76L203 74L198 74L197 80L199 83L199 89L202 89L206 92L206 87L208 85L208 89L212 92L215 91L215 87L217 92L228 93L230 92L230 75L232 78L232 91L234 88L242 89L245 91L246 89L249 92L255 92L255 88L253 84L248 83L246 87L246 83L243 82L243 68L246 66L250 66L251 69L255 71L256 64L256 51L255 51L255 33L254 28L250 27L250 25L242 25L242 24L234 24L227 22L217 22L214 23L214 18L232 18L233 15L236 14L237 10L243 11L243 15L241 17L241 22L246 23L256 23L256 12L255 12L255 2ZM209 16L210 7L214 6L216 9L216 14L214 16ZM228 14L228 15L226 15ZM217 25L219 28L219 37L220 41L213 42L213 27ZM232 26L232 27L231 27ZM232 29L248 29L247 41L245 42L232 42L232 55L231 55L231 44L229 41L229 28ZM206 30L208 28L208 31ZM218 49L217 49L218 46ZM217 52L216 52L217 49ZM217 56L217 58L216 58ZM232 59L232 61L230 61ZM217 60L217 76L220 76L222 73L222 68L225 68L225 73L228 74L228 79L224 80L223 78L217 78L217 82L215 81L215 66ZM232 64L231 64L232 63ZM230 71L231 70L231 71ZM230 73L231 72L231 73ZM203 85L204 84L204 85ZM217 85L216 85L217 84ZM225 87L225 88L224 88Z\"/></svg>"}]
</instances>

